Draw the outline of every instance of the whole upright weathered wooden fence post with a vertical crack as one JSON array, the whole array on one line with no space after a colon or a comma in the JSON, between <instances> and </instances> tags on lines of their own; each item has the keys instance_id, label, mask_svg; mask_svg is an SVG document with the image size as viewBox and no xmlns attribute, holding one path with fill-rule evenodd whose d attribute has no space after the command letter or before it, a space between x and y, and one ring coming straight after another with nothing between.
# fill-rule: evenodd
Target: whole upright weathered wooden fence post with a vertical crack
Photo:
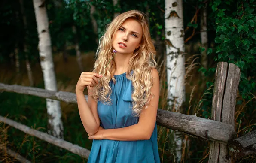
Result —
<instances>
[{"instance_id":1,"label":"whole upright weathered wooden fence post with a vertical crack","mask_svg":"<svg viewBox=\"0 0 256 163\"><path fill-rule=\"evenodd\" d=\"M213 104L211 119L231 124L235 135L235 104L238 84L240 80L240 69L232 63L219 62L216 70L215 85L213 90ZM222 133L219 133L222 134ZM227 145L219 142L210 143L209 163L232 163Z\"/></svg>"}]
</instances>

